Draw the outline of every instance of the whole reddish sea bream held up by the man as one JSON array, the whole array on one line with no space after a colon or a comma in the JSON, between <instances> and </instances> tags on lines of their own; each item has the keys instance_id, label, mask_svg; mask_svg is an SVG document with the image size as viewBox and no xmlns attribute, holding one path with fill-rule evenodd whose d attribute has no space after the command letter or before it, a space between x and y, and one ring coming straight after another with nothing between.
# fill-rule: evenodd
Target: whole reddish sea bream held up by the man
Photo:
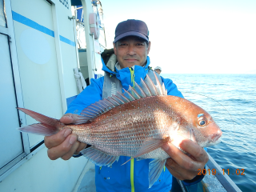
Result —
<instances>
[{"instance_id":1,"label":"whole reddish sea bream held up by the man","mask_svg":"<svg viewBox=\"0 0 256 192\"><path fill-rule=\"evenodd\" d=\"M222 135L205 110L184 98L167 95L158 78L154 82L146 77L145 82L139 86L135 83L123 94L95 102L82 111L76 125L64 125L58 119L18 108L40 122L19 130L52 135L71 128L78 141L91 145L82 154L98 166L111 166L119 156L154 158L149 166L151 187L170 158L161 148L164 143L180 135L204 147L214 145Z\"/></svg>"}]
</instances>

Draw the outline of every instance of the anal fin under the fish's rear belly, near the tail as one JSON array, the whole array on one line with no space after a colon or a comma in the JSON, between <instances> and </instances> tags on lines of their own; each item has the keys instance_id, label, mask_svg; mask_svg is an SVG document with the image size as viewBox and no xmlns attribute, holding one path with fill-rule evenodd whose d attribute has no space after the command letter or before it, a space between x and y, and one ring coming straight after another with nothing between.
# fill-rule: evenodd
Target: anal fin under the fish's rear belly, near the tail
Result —
<instances>
[{"instance_id":1,"label":"anal fin under the fish's rear belly, near the tail","mask_svg":"<svg viewBox=\"0 0 256 192\"><path fill-rule=\"evenodd\" d=\"M119 159L119 156L106 154L102 150L95 149L93 146L82 150L81 153L97 166L111 166Z\"/></svg>"}]
</instances>

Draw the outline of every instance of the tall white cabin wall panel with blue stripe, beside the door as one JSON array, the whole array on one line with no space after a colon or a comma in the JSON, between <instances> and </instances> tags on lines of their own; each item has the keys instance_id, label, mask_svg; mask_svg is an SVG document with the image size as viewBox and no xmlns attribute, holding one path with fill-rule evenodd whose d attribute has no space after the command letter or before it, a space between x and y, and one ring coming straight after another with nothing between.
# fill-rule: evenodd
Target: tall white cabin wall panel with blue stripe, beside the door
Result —
<instances>
[{"instance_id":1,"label":"tall white cabin wall panel with blue stripe, beside the door","mask_svg":"<svg viewBox=\"0 0 256 192\"><path fill-rule=\"evenodd\" d=\"M29 0L13 0L11 6L13 13L18 14L17 17L25 17L33 21L32 26L37 27L38 24L54 31L52 9L48 2L35 0L31 3ZM17 20L15 21L14 17L24 107L52 118L60 118L62 102L55 39ZM27 124L35 122L33 118L26 116ZM42 139L42 136L29 134L30 146L36 145Z\"/></svg>"}]
</instances>

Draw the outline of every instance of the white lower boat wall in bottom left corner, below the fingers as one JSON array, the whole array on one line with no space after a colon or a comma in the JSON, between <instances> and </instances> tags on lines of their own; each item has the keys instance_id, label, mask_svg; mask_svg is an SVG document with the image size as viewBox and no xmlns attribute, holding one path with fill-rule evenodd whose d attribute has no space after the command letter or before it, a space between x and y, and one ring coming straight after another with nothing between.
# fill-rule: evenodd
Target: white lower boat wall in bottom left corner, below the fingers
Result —
<instances>
[{"instance_id":1,"label":"white lower boat wall in bottom left corner, below the fingers","mask_svg":"<svg viewBox=\"0 0 256 192\"><path fill-rule=\"evenodd\" d=\"M87 162L86 158L51 161L44 147L2 182L0 191L71 192Z\"/></svg>"}]
</instances>

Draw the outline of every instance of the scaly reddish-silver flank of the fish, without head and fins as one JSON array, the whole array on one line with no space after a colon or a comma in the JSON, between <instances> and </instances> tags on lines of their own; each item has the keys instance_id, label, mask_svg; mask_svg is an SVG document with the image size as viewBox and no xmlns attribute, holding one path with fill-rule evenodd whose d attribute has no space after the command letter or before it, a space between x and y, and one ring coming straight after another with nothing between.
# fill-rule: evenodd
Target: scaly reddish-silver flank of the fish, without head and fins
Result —
<instances>
[{"instance_id":1,"label":"scaly reddish-silver flank of the fish, without head and fins","mask_svg":"<svg viewBox=\"0 0 256 192\"><path fill-rule=\"evenodd\" d=\"M160 97L162 98L160 99ZM162 100L165 100L164 97L168 96L143 98L140 102L133 101L114 108L91 122L90 127L97 127L97 129L86 129L83 134L76 132L75 127L70 128L73 129L73 134L78 134L80 142L86 142L97 147L98 150L108 154L113 154L114 151L116 156L134 156L146 139L162 139L170 132L169 127L172 127L174 118L171 118L169 114L173 114L173 110L170 106L159 106L160 103L162 104ZM119 116L120 111L122 117L113 122L113 118ZM145 154L141 158L154 158L155 154L160 151L161 149ZM166 158L164 151L161 151L160 154L163 156L158 155L158 158Z\"/></svg>"}]
</instances>

